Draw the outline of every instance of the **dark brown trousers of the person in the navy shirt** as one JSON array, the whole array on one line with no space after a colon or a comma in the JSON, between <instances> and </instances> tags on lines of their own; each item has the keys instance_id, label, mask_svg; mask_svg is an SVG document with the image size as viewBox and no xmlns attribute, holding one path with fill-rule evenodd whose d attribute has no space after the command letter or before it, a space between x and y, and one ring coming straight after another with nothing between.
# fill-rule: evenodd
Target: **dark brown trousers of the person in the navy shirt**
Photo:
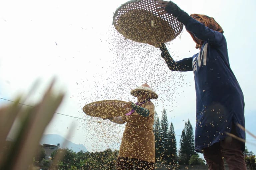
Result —
<instances>
[{"instance_id":1,"label":"dark brown trousers of the person in the navy shirt","mask_svg":"<svg viewBox=\"0 0 256 170\"><path fill-rule=\"evenodd\" d=\"M232 126L232 134L235 134L235 127ZM209 170L225 170L225 158L229 170L246 170L244 154L242 153L243 143L228 136L225 140L214 143L203 151L204 159L207 162Z\"/></svg>"}]
</instances>

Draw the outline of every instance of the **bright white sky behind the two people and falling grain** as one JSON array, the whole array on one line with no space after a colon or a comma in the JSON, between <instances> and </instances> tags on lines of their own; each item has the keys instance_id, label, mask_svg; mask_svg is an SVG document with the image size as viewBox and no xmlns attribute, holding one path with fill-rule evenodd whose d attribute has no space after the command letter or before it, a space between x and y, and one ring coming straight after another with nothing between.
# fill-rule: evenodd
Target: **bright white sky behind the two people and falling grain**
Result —
<instances>
[{"instance_id":1,"label":"bright white sky behind the two people and falling grain","mask_svg":"<svg viewBox=\"0 0 256 170\"><path fill-rule=\"evenodd\" d=\"M0 2L0 97L14 100L40 79L32 104L41 98L49 81L56 76L57 90L66 97L58 113L95 120L82 112L90 102L119 99L135 102L130 90L148 82L159 93L153 101L161 118L163 108L176 134L185 121L195 127L195 87L193 73L171 72L160 50L126 41L112 26L116 8L125 0L50 1L2 0ZM227 39L229 60L245 96L246 128L256 134L255 124L255 17L254 0L174 1L187 13L206 14L222 26ZM167 47L178 60L197 53L190 35L183 33ZM119 56L117 56L117 53ZM127 64L127 61L134 63ZM136 63L136 64L135 64ZM145 66L138 69L138 66ZM136 71L139 70L140 72ZM142 70L145 71L142 73ZM0 99L0 105L9 102ZM26 103L31 104L31 103ZM100 120L101 121L101 120ZM104 121L108 123L108 121ZM46 134L66 136L89 151L119 148L124 128L93 123L56 114ZM247 134L247 139L254 139ZM179 147L179 136L176 136ZM250 142L250 143L249 143ZM248 140L248 150L256 153L256 141Z\"/></svg>"}]
</instances>

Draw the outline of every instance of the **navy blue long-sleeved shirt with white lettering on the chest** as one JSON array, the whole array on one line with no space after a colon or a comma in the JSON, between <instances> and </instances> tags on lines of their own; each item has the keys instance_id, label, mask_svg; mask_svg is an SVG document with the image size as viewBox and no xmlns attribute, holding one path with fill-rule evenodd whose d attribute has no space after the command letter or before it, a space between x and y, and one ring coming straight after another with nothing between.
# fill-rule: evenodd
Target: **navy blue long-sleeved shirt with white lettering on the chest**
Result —
<instances>
[{"instance_id":1,"label":"navy blue long-sleeved shirt with white lettering on the chest","mask_svg":"<svg viewBox=\"0 0 256 170\"><path fill-rule=\"evenodd\" d=\"M199 53L174 61L167 49L161 56L173 71L193 71L196 88L195 149L223 140L232 123L245 127L244 96L229 64L227 42L222 33L213 31L190 18L186 29L204 43ZM245 139L245 131L236 127L237 136ZM244 148L242 148L244 150Z\"/></svg>"}]
</instances>

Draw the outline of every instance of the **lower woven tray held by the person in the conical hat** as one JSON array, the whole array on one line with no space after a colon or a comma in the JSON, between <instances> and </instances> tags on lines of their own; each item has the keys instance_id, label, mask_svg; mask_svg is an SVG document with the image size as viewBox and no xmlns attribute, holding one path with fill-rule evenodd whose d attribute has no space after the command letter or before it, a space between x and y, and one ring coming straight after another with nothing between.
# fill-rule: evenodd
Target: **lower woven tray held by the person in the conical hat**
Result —
<instances>
[{"instance_id":1,"label":"lower woven tray held by the person in the conical hat","mask_svg":"<svg viewBox=\"0 0 256 170\"><path fill-rule=\"evenodd\" d=\"M121 100L102 100L92 102L83 107L86 115L99 118L113 118L122 116L131 111L131 108L126 108L127 102Z\"/></svg>"}]
</instances>

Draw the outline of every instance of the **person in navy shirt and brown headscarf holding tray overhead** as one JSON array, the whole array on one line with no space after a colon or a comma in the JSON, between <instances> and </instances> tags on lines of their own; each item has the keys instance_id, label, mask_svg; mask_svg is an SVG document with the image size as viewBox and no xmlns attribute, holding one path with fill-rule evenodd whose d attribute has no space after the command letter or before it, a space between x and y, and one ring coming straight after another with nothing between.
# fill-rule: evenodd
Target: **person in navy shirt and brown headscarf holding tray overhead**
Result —
<instances>
[{"instance_id":1,"label":"person in navy shirt and brown headscarf holding tray overhead","mask_svg":"<svg viewBox=\"0 0 256 170\"><path fill-rule=\"evenodd\" d=\"M196 88L195 149L210 170L246 170L244 96L229 64L227 42L220 25L206 15L188 15L172 1L158 1L160 14L170 13L183 23L199 52L175 61L164 43L161 56L172 71L193 71ZM231 135L230 135L231 134ZM236 135L241 140L232 137Z\"/></svg>"}]
</instances>

